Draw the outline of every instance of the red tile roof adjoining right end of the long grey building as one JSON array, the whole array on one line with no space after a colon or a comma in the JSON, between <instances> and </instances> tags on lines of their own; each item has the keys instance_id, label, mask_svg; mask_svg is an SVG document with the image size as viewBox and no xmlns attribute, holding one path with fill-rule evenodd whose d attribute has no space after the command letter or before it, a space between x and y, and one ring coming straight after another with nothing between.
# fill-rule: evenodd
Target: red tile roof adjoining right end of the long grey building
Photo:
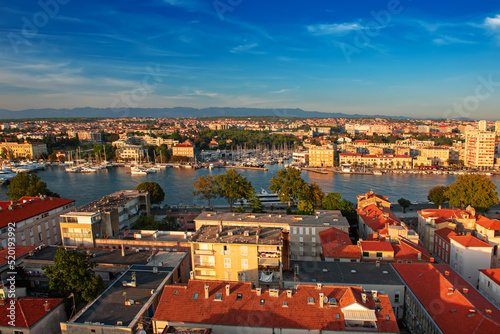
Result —
<instances>
[{"instance_id":1,"label":"red tile roof adjoining right end of the long grey building","mask_svg":"<svg viewBox=\"0 0 500 334\"><path fill-rule=\"evenodd\" d=\"M360 259L361 250L351 243L349 234L334 227L319 233L325 257Z\"/></svg>"}]
</instances>

